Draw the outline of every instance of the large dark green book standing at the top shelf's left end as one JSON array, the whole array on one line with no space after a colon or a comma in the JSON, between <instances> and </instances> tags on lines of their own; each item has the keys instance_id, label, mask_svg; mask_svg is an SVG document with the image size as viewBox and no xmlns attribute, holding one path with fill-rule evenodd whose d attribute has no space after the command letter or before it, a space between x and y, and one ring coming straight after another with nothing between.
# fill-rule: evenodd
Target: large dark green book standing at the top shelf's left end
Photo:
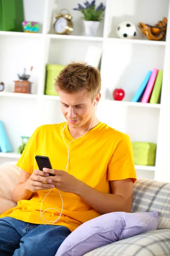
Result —
<instances>
[{"instance_id":1,"label":"large dark green book standing at the top shelf's left end","mask_svg":"<svg viewBox=\"0 0 170 256\"><path fill-rule=\"evenodd\" d=\"M0 30L23 32L23 0L0 0Z\"/></svg>"}]
</instances>

